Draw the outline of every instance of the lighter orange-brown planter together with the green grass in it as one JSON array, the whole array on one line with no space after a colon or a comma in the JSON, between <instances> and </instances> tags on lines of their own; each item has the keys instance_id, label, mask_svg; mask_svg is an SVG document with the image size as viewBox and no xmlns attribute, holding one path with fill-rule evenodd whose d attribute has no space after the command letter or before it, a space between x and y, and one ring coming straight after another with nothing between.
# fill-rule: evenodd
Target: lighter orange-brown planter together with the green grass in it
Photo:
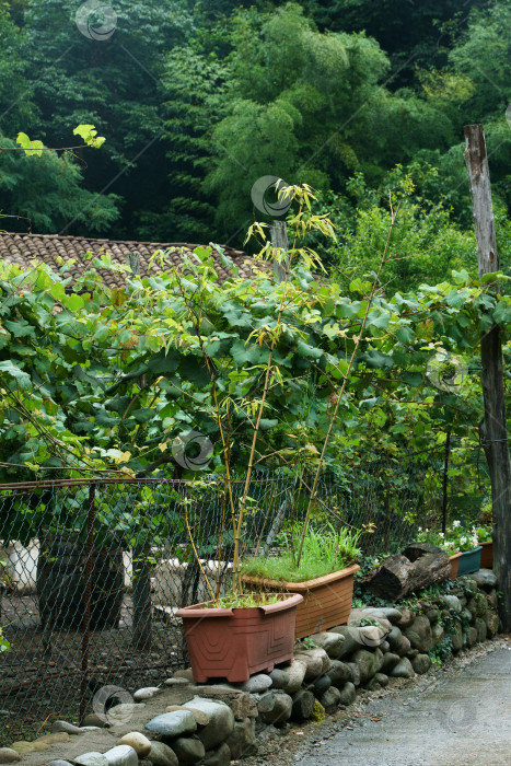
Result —
<instances>
[{"instance_id":1,"label":"lighter orange-brown planter together with the green grass in it","mask_svg":"<svg viewBox=\"0 0 511 766\"><path fill-rule=\"evenodd\" d=\"M353 576L360 569L357 564L360 531L335 530L332 524L310 524L304 535L303 532L303 524L294 524L280 536L280 553L246 557L242 565L243 580L251 588L303 595L297 610L297 638L348 622Z\"/></svg>"}]
</instances>

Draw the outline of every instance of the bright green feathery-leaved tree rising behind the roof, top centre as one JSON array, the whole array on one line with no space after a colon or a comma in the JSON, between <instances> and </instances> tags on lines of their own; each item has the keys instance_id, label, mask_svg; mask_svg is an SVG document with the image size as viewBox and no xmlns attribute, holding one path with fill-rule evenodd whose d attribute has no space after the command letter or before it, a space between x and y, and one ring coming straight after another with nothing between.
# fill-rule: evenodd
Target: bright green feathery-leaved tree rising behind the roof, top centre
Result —
<instances>
[{"instance_id":1,"label":"bright green feathery-leaved tree rising behind the roof, top centre","mask_svg":"<svg viewBox=\"0 0 511 766\"><path fill-rule=\"evenodd\" d=\"M388 60L362 33L322 34L288 4L239 16L233 45L230 114L213 132L208 178L227 236L249 214L259 176L336 190L362 171L378 183L396 161L449 141L450 120L434 105L385 89Z\"/></svg>"}]
</instances>

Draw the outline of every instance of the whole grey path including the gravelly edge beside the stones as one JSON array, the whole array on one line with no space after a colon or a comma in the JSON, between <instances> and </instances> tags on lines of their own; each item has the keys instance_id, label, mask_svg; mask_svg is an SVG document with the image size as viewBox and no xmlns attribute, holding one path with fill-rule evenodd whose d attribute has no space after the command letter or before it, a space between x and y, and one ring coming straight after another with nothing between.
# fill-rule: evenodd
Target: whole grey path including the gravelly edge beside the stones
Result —
<instances>
[{"instance_id":1,"label":"whole grey path including the gravelly edge beside the stones","mask_svg":"<svg viewBox=\"0 0 511 766\"><path fill-rule=\"evenodd\" d=\"M324 723L279 733L240 764L511 765L511 639L498 637L413 681L363 692Z\"/></svg>"}]
</instances>

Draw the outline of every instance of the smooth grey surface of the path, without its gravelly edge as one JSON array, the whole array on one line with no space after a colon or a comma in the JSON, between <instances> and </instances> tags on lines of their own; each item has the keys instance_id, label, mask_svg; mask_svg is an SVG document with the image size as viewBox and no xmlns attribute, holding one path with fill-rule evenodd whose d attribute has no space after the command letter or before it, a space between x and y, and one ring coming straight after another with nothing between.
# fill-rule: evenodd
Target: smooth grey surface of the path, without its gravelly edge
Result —
<instances>
[{"instance_id":1,"label":"smooth grey surface of the path, without its gravelly edge","mask_svg":"<svg viewBox=\"0 0 511 766\"><path fill-rule=\"evenodd\" d=\"M409 701L404 701L408 700ZM511 648L473 662L425 694L379 699L362 727L342 729L298 766L511 764ZM371 721L370 716L374 719Z\"/></svg>"}]
</instances>

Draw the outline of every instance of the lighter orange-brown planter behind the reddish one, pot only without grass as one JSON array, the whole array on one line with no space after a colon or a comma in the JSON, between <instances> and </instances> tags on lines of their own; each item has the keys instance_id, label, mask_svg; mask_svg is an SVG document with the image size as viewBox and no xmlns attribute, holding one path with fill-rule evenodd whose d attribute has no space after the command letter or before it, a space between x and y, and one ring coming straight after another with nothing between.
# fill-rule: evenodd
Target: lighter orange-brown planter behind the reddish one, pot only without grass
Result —
<instances>
[{"instance_id":1,"label":"lighter orange-brown planter behind the reddish one, pot only without grass","mask_svg":"<svg viewBox=\"0 0 511 766\"><path fill-rule=\"evenodd\" d=\"M248 574L244 574L242 580L257 591L301 593L303 602L297 608L294 636L305 638L336 625L348 624L353 597L353 574L359 569L359 565L353 564L347 569L305 582L279 582Z\"/></svg>"}]
</instances>

